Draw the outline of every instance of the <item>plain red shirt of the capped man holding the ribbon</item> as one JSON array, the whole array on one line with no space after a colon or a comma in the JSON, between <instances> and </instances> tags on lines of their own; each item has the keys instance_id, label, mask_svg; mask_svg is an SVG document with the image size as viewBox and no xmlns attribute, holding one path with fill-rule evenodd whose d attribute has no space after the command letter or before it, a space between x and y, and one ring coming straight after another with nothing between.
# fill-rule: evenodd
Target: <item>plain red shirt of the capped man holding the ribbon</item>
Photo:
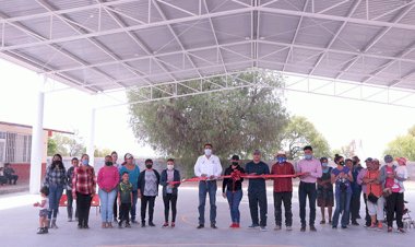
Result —
<instances>
[{"instance_id":1,"label":"plain red shirt of the capped man holding the ribbon","mask_svg":"<svg viewBox=\"0 0 415 247\"><path fill-rule=\"evenodd\" d=\"M271 174L275 175L294 175L294 166L289 162L283 164L275 163L272 165ZM274 192L293 191L293 179L290 177L274 178Z\"/></svg>"}]
</instances>

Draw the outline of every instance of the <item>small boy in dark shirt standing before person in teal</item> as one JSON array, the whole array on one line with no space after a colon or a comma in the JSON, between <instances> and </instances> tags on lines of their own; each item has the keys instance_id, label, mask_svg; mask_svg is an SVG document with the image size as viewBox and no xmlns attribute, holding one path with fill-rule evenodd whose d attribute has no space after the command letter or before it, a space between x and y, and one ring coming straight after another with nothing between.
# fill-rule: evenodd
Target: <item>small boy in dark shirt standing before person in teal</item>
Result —
<instances>
[{"instance_id":1,"label":"small boy in dark shirt standing before person in teal","mask_svg":"<svg viewBox=\"0 0 415 247\"><path fill-rule=\"evenodd\" d=\"M122 227L122 222L126 222L126 227L130 228L129 212L132 203L132 185L129 181L128 172L122 173L122 180L118 185L118 204L120 221L118 227Z\"/></svg>"}]
</instances>

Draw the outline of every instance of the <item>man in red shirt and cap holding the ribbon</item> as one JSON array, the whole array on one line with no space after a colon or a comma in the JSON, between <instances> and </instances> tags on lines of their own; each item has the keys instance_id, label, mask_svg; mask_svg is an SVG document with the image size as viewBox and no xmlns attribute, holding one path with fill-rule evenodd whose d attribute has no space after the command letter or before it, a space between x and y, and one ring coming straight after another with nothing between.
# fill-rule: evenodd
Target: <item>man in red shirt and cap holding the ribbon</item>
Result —
<instances>
[{"instance_id":1,"label":"man in red shirt and cap holding the ribbon","mask_svg":"<svg viewBox=\"0 0 415 247\"><path fill-rule=\"evenodd\" d=\"M294 166L287 162L285 151L278 151L276 154L276 163L272 165L271 174L273 175L294 175ZM274 216L275 216L275 231L281 230L282 225L282 209L281 204L284 202L285 210L285 226L287 231L292 231L293 213L292 213L292 198L293 198L293 179L290 177L274 178Z\"/></svg>"}]
</instances>

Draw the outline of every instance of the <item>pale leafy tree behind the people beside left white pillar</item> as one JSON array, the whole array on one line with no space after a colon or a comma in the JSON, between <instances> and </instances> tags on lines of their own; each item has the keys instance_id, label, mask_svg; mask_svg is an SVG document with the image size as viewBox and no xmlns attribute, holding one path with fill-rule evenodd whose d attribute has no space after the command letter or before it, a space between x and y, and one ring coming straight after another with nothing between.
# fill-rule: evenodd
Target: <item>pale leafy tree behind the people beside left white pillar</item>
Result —
<instances>
[{"instance_id":1,"label":"pale leafy tree behind the people beside left white pillar","mask_svg":"<svg viewBox=\"0 0 415 247\"><path fill-rule=\"evenodd\" d=\"M50 142L56 143L55 152L51 155L59 153L62 156L80 156L86 152L83 138L79 134L78 130L71 136L55 133L50 139Z\"/></svg>"}]
</instances>

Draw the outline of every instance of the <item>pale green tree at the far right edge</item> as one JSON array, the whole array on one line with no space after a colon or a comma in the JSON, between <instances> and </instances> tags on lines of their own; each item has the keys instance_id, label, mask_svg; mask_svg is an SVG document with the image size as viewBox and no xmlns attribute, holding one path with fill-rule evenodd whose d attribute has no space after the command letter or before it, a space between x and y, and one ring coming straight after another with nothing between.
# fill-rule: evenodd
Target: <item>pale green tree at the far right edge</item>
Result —
<instances>
[{"instance_id":1,"label":"pale green tree at the far right edge","mask_svg":"<svg viewBox=\"0 0 415 247\"><path fill-rule=\"evenodd\" d=\"M399 136L396 139L389 142L384 154L415 161L415 126L408 129L407 134Z\"/></svg>"}]
</instances>

